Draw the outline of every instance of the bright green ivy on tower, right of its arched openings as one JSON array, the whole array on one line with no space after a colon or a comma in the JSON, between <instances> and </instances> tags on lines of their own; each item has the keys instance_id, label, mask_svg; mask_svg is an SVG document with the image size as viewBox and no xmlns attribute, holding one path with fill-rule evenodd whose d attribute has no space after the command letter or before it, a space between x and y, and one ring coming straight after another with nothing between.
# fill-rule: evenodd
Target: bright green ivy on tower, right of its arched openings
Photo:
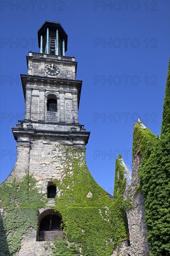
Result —
<instances>
[{"instance_id":1,"label":"bright green ivy on tower, right of its arched openings","mask_svg":"<svg viewBox=\"0 0 170 256\"><path fill-rule=\"evenodd\" d=\"M55 204L63 217L65 237L81 248L83 256L110 256L111 200L92 178L85 164L85 150L65 147L63 153L64 150L60 161L65 164L65 171L63 179L55 181L60 191Z\"/></svg>"}]
</instances>

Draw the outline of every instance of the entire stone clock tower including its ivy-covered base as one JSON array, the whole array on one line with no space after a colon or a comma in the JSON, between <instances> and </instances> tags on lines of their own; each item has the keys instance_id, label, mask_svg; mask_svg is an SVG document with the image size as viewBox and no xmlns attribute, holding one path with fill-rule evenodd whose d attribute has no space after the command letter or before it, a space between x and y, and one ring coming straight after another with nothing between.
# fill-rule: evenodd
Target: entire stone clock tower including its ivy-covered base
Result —
<instances>
[{"instance_id":1,"label":"entire stone clock tower including its ivy-covered base","mask_svg":"<svg viewBox=\"0 0 170 256\"><path fill-rule=\"evenodd\" d=\"M77 62L65 56L60 23L45 21L38 40L40 53L29 52L28 74L21 74L25 119L12 127L17 160L0 185L0 256L55 256L55 248L60 256L63 249L111 255L111 199L85 163L90 132L78 122Z\"/></svg>"}]
</instances>

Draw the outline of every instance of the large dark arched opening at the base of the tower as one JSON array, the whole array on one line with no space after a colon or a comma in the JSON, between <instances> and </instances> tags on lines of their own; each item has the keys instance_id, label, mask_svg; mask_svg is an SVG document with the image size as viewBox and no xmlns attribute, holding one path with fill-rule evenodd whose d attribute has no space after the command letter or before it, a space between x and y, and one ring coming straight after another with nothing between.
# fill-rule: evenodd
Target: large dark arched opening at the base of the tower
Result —
<instances>
[{"instance_id":1,"label":"large dark arched opening at the base of the tower","mask_svg":"<svg viewBox=\"0 0 170 256\"><path fill-rule=\"evenodd\" d=\"M55 241L57 237L63 240L61 231L62 216L53 209L47 209L39 216L37 241Z\"/></svg>"}]
</instances>

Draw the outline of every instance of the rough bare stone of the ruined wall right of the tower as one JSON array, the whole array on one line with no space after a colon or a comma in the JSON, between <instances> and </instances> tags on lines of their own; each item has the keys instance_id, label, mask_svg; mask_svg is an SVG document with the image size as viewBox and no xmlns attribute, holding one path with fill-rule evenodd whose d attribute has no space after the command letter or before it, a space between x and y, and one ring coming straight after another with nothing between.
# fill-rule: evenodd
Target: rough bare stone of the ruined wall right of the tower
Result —
<instances>
[{"instance_id":1,"label":"rough bare stone of the ruined wall right of the tower","mask_svg":"<svg viewBox=\"0 0 170 256\"><path fill-rule=\"evenodd\" d=\"M149 256L150 244L146 241L146 224L144 222L144 195L141 191L136 194L139 185L138 167L141 157L140 152L138 152L133 158L130 197L134 208L126 210L131 246L127 247L127 243L123 242L119 250L119 256ZM126 184L124 199L128 196L128 190L129 185ZM117 255L116 252L114 255Z\"/></svg>"}]
</instances>

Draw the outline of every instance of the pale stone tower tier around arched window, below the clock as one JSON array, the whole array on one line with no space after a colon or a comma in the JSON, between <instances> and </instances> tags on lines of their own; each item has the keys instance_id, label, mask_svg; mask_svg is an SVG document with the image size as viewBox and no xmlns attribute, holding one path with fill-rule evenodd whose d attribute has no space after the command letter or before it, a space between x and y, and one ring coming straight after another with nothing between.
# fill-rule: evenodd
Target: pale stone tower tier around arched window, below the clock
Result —
<instances>
[{"instance_id":1,"label":"pale stone tower tier around arched window, below the clock","mask_svg":"<svg viewBox=\"0 0 170 256\"><path fill-rule=\"evenodd\" d=\"M57 100L57 112L47 111L48 95L53 94ZM78 92L74 86L46 85L42 88L38 82L26 86L26 111L25 119L32 121L78 123ZM44 124L44 128L46 126ZM48 129L52 130L53 126ZM43 126L41 126L43 129Z\"/></svg>"}]
</instances>

